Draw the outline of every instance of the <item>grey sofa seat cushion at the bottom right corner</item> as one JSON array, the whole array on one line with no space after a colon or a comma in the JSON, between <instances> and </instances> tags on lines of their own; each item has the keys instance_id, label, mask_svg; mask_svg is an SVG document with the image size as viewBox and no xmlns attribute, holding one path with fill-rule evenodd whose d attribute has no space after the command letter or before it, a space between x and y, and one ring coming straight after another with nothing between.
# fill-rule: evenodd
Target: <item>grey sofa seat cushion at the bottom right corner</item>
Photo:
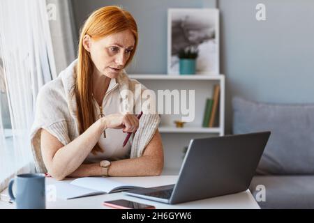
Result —
<instances>
[{"instance_id":1,"label":"grey sofa seat cushion at the bottom right corner","mask_svg":"<svg viewBox=\"0 0 314 223\"><path fill-rule=\"evenodd\" d=\"M264 185L264 197L257 185ZM261 208L314 208L314 176L311 175L255 176L250 190Z\"/></svg>"}]
</instances>

